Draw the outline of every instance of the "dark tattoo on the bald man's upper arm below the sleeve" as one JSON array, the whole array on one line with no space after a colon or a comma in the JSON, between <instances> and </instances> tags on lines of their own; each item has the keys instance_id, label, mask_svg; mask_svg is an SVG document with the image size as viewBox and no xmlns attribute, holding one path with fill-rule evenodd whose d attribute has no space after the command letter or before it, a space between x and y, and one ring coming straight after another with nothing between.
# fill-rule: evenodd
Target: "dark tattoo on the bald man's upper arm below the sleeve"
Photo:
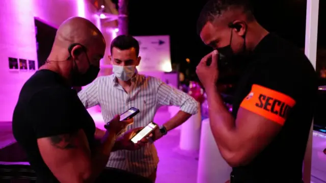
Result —
<instances>
[{"instance_id":1,"label":"dark tattoo on the bald man's upper arm below the sleeve","mask_svg":"<svg viewBox=\"0 0 326 183\"><path fill-rule=\"evenodd\" d=\"M51 144L59 149L73 149L76 146L73 144L73 134L65 134L50 137Z\"/></svg>"}]
</instances>

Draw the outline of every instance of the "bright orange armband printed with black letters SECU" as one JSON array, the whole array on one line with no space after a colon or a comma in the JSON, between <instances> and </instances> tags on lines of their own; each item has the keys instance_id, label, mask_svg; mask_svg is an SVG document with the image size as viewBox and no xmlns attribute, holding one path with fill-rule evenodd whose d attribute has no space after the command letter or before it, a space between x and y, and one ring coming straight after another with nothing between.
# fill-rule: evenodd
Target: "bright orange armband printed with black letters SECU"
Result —
<instances>
[{"instance_id":1,"label":"bright orange armband printed with black letters SECU","mask_svg":"<svg viewBox=\"0 0 326 183\"><path fill-rule=\"evenodd\" d=\"M242 100L240 107L283 125L294 105L295 100L288 95L253 85L250 93Z\"/></svg>"}]
</instances>

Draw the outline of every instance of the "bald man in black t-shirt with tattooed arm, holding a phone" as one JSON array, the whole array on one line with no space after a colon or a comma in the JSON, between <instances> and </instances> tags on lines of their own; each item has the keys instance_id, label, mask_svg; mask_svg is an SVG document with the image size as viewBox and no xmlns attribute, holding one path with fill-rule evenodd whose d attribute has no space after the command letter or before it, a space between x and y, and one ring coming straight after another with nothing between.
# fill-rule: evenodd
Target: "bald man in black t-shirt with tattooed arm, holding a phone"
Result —
<instances>
[{"instance_id":1,"label":"bald man in black t-shirt with tattooed arm, holding a phone","mask_svg":"<svg viewBox=\"0 0 326 183\"><path fill-rule=\"evenodd\" d=\"M119 115L95 143L95 123L73 86L91 83L103 58L103 35L89 20L63 22L51 53L24 84L13 114L13 134L37 174L37 182L93 182L104 169L117 134L133 122ZM118 139L132 145L134 129ZM134 146L141 147L142 144Z\"/></svg>"}]
</instances>

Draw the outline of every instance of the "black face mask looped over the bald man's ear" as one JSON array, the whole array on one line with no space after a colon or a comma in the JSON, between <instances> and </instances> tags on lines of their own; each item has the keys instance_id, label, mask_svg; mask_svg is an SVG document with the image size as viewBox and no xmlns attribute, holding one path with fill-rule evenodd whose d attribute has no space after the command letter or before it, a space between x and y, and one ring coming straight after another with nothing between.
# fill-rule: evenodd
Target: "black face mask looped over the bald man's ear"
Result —
<instances>
[{"instance_id":1,"label":"black face mask looped over the bald man's ear","mask_svg":"<svg viewBox=\"0 0 326 183\"><path fill-rule=\"evenodd\" d=\"M69 46L68 51L69 51L70 55L71 55L72 48L76 45L81 45L81 44L74 43ZM74 60L75 66L72 68L72 72L71 72L71 85L74 87L82 87L82 86L86 86L86 85L92 83L96 79L96 77L100 71L99 67L91 65L91 62L87 56L86 47L83 45L81 45L81 46L83 47L83 51L86 54L89 68L87 69L87 71L84 74L80 73L78 70L76 61Z\"/></svg>"}]
</instances>

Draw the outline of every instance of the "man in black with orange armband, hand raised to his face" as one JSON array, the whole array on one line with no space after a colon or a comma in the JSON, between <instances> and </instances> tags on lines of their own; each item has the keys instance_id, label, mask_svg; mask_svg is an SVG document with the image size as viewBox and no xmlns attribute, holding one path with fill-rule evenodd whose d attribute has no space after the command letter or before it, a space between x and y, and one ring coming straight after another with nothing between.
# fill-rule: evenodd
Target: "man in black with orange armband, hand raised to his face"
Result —
<instances>
[{"instance_id":1,"label":"man in black with orange armband, hand raised to his face","mask_svg":"<svg viewBox=\"0 0 326 183\"><path fill-rule=\"evenodd\" d=\"M261 27L246 0L210 0L198 32L215 49L196 72L207 93L214 139L233 167L231 182L301 182L317 91L307 57ZM232 114L215 87L218 63L227 60L246 62Z\"/></svg>"}]
</instances>

